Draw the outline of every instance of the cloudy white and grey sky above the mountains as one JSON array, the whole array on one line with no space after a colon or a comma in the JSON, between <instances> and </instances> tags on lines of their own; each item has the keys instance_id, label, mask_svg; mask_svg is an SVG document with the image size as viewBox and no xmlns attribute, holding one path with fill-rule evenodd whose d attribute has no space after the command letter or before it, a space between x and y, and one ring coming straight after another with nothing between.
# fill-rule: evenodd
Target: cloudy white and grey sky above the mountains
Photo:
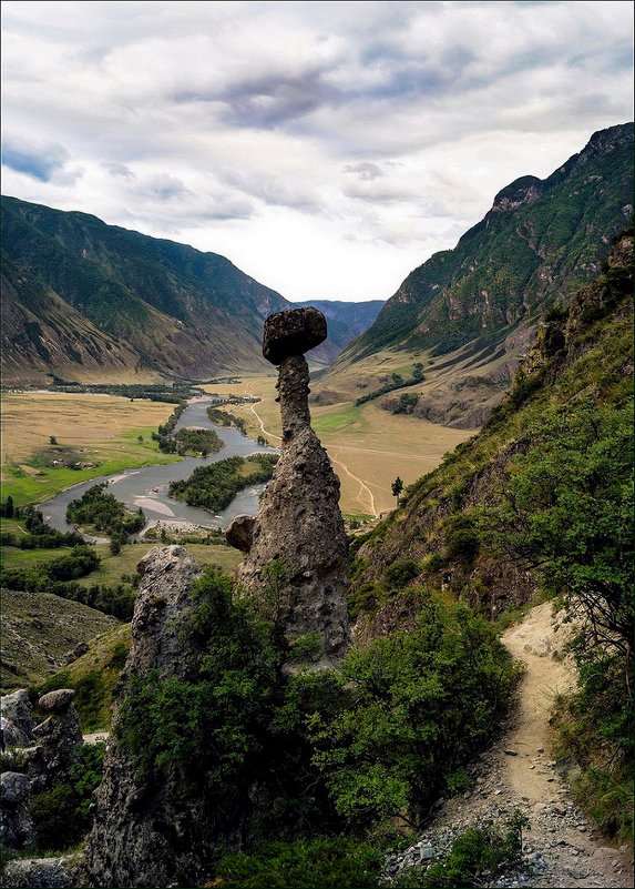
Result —
<instances>
[{"instance_id":1,"label":"cloudy white and grey sky above the mountains","mask_svg":"<svg viewBox=\"0 0 635 889\"><path fill-rule=\"evenodd\" d=\"M2 192L387 299L633 118L631 2L2 2Z\"/></svg>"}]
</instances>

